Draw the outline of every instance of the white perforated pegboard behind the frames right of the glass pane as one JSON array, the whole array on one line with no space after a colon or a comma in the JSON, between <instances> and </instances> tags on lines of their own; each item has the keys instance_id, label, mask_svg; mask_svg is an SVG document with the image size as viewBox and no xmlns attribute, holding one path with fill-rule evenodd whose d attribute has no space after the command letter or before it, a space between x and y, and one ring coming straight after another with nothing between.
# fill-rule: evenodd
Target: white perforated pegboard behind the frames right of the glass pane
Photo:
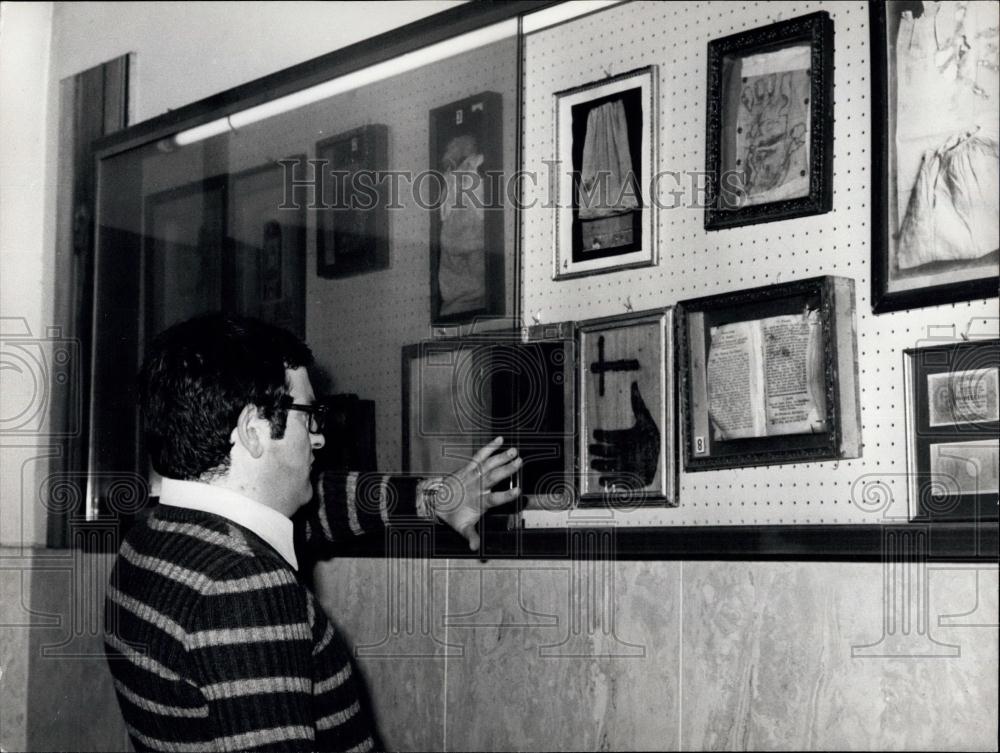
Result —
<instances>
[{"instance_id":1,"label":"white perforated pegboard behind the frames right of the glass pane","mask_svg":"<svg viewBox=\"0 0 1000 753\"><path fill-rule=\"evenodd\" d=\"M850 2L634 2L536 32L524 44L524 169L547 175L556 158L555 92L658 66L659 170L705 169L707 44L817 10L834 23L833 211L706 232L704 212L658 214L655 267L552 280L554 222L548 181L526 184L522 311L542 323L580 321L816 275L855 282L863 455L857 460L680 473L678 508L619 516L644 525L877 523L906 517L902 351L957 338L998 317L997 301L871 313L871 136L868 4ZM531 206L531 199L536 201ZM930 336L928 333L932 333ZM682 467L682 463L680 463ZM593 511L579 511L592 516ZM565 514L553 514L559 524ZM544 524L545 516L529 518Z\"/></svg>"}]
</instances>

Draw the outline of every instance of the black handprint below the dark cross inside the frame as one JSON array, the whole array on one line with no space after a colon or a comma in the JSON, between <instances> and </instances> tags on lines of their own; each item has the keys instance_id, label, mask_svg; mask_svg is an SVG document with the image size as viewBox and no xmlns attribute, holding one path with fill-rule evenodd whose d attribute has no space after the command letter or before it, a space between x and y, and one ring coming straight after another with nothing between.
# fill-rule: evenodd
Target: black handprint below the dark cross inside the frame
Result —
<instances>
[{"instance_id":1,"label":"black handprint below the dark cross inside the frame","mask_svg":"<svg viewBox=\"0 0 1000 753\"><path fill-rule=\"evenodd\" d=\"M632 382L632 413L635 423L628 429L594 429L590 445L590 467L604 473L603 487L641 489L653 483L660 458L660 430Z\"/></svg>"}]
</instances>

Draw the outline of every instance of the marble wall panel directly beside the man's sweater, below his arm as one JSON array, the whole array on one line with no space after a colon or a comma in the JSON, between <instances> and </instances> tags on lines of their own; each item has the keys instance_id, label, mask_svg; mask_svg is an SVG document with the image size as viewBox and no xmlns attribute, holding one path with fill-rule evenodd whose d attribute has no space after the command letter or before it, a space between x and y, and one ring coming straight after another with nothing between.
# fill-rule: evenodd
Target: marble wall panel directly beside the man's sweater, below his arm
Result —
<instances>
[{"instance_id":1,"label":"marble wall panel directly beside the man's sweater, below his arm","mask_svg":"<svg viewBox=\"0 0 1000 753\"><path fill-rule=\"evenodd\" d=\"M390 750L442 750L444 594L432 589L444 560L335 559L316 566L324 611L354 650Z\"/></svg>"}]
</instances>

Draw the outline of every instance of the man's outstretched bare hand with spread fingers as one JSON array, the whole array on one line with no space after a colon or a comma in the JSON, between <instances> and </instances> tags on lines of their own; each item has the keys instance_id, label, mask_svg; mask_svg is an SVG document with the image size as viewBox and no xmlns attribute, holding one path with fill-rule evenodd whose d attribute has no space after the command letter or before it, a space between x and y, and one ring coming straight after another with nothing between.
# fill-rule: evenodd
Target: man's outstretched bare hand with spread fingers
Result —
<instances>
[{"instance_id":1,"label":"man's outstretched bare hand with spread fingers","mask_svg":"<svg viewBox=\"0 0 1000 753\"><path fill-rule=\"evenodd\" d=\"M487 510L507 504L521 494L519 487L500 492L490 489L510 478L521 467L521 458L513 447L497 452L503 437L497 437L475 454L467 466L445 476L437 485L432 507L434 515L469 541L469 548L479 549L476 524Z\"/></svg>"}]
</instances>

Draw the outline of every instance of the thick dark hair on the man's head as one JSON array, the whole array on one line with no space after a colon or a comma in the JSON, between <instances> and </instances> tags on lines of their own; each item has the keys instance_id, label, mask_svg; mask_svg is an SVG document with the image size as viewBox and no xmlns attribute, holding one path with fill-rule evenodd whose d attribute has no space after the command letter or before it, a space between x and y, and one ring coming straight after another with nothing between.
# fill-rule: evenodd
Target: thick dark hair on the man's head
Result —
<instances>
[{"instance_id":1,"label":"thick dark hair on the man's head","mask_svg":"<svg viewBox=\"0 0 1000 753\"><path fill-rule=\"evenodd\" d=\"M228 314L206 314L160 333L139 372L146 445L157 473L195 480L229 467L240 413L255 405L285 433L285 369L310 366L312 352L291 332Z\"/></svg>"}]
</instances>

